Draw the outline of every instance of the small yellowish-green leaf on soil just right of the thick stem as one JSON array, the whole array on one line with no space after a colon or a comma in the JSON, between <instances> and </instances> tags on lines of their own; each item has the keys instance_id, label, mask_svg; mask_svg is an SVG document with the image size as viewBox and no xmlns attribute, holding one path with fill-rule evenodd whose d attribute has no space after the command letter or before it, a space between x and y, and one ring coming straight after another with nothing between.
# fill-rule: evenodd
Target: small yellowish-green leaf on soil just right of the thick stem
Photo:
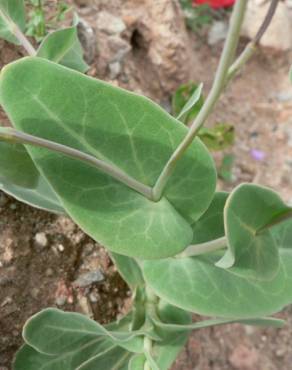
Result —
<instances>
[{"instance_id":1,"label":"small yellowish-green leaf on soil just right of the thick stem","mask_svg":"<svg viewBox=\"0 0 292 370\"><path fill-rule=\"evenodd\" d=\"M211 128L202 127L198 136L210 150L224 150L234 144L234 127L228 123L217 123Z\"/></svg>"}]
</instances>

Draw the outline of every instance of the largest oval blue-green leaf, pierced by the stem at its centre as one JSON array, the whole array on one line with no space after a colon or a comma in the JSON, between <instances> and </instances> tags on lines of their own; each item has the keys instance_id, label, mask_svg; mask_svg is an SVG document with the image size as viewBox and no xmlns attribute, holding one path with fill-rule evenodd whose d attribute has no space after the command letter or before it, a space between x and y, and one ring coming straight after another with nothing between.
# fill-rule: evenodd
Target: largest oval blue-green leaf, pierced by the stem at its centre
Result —
<instances>
[{"instance_id":1,"label":"largest oval blue-green leaf, pierced by the stem at its centre","mask_svg":"<svg viewBox=\"0 0 292 370\"><path fill-rule=\"evenodd\" d=\"M113 163L148 186L187 133L148 99L41 58L4 68L0 101L16 128ZM158 202L84 163L28 150L72 219L123 255L155 259L182 251L192 241L189 223L214 194L214 163L198 139Z\"/></svg>"}]
</instances>

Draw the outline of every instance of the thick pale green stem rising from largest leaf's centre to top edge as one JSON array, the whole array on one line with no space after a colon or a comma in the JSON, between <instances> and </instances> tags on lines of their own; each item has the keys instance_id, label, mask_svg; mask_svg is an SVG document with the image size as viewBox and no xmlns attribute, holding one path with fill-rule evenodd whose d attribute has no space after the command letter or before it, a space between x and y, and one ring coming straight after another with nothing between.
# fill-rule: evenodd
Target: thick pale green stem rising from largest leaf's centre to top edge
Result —
<instances>
[{"instance_id":1,"label":"thick pale green stem rising from largest leaf's centre to top edge","mask_svg":"<svg viewBox=\"0 0 292 370\"><path fill-rule=\"evenodd\" d=\"M210 91L210 94L208 95L208 98L206 99L205 104L203 105L202 109L197 115L195 121L191 125L187 135L185 136L181 144L177 147L177 149L174 151L174 153L166 163L165 167L163 168L160 176L158 177L158 180L153 188L153 198L155 201L159 200L162 197L163 191L178 161L181 159L185 151L193 142L199 129L205 123L206 119L212 112L216 102L218 101L222 93L222 90L225 85L226 76L228 73L228 68L231 65L234 53L237 48L246 5L247 0L237 0L235 3L230 20L230 27L227 39L224 45L224 49L221 55L221 59L219 62L219 66L216 72L215 80Z\"/></svg>"}]
</instances>

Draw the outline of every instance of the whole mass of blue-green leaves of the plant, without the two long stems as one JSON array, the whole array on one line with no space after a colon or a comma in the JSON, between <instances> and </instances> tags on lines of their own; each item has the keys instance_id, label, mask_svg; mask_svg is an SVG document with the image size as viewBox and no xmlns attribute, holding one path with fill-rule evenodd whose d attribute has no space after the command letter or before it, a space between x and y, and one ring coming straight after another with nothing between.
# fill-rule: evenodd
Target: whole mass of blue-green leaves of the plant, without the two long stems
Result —
<instances>
[{"instance_id":1,"label":"whole mass of blue-green leaves of the plant, without the two long stems","mask_svg":"<svg viewBox=\"0 0 292 370\"><path fill-rule=\"evenodd\" d=\"M17 12L7 4L0 0L0 36L16 43L7 19L24 29L23 4ZM80 48L76 26L49 34L36 56L3 68L1 106L16 129L152 188L188 128L148 99L80 73ZM200 89L176 112L180 119L193 114ZM134 294L130 313L104 327L56 309L33 316L14 370L142 370L145 363L166 370L193 329L283 325L266 316L291 303L292 209L257 185L216 192L215 166L199 138L158 201L48 147L1 142L0 154L1 189L71 217L107 248ZM190 253L218 241L221 250ZM215 318L192 323L192 312Z\"/></svg>"}]
</instances>

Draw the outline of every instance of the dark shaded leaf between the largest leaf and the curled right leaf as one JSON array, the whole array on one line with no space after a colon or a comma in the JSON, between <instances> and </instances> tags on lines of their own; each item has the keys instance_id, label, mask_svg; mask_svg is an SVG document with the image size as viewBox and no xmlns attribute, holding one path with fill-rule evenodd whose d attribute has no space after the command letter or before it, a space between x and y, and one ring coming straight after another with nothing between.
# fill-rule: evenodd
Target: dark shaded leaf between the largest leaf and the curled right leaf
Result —
<instances>
[{"instance_id":1,"label":"dark shaded leaf between the largest leaf and the curled right leaf","mask_svg":"<svg viewBox=\"0 0 292 370\"><path fill-rule=\"evenodd\" d=\"M205 243L222 238L224 231L224 206L228 197L226 192L217 192L203 216L193 225L193 244Z\"/></svg>"}]
</instances>

